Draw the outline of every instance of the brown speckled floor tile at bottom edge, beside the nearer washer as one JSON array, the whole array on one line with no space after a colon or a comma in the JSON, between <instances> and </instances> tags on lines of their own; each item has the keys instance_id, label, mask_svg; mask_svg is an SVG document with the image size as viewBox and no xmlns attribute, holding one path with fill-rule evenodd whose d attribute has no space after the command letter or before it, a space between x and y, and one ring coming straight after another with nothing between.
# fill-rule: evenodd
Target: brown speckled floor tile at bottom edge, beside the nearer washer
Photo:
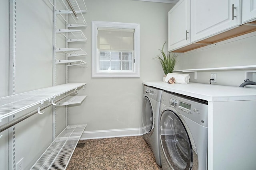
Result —
<instances>
[{"instance_id":1,"label":"brown speckled floor tile at bottom edge, beside the nearer washer","mask_svg":"<svg viewBox=\"0 0 256 170\"><path fill-rule=\"evenodd\" d=\"M124 154L126 170L159 170L152 152Z\"/></svg>"}]
</instances>

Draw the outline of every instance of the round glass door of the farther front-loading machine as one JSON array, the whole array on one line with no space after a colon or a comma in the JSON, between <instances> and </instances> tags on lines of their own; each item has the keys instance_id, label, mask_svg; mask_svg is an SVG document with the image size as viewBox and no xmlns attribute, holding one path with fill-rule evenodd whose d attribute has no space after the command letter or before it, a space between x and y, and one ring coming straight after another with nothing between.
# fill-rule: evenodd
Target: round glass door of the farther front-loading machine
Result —
<instances>
[{"instance_id":1,"label":"round glass door of the farther front-loading machine","mask_svg":"<svg viewBox=\"0 0 256 170\"><path fill-rule=\"evenodd\" d=\"M153 126L153 110L147 97L144 97L142 102L142 125L143 133L149 133Z\"/></svg>"}]
</instances>

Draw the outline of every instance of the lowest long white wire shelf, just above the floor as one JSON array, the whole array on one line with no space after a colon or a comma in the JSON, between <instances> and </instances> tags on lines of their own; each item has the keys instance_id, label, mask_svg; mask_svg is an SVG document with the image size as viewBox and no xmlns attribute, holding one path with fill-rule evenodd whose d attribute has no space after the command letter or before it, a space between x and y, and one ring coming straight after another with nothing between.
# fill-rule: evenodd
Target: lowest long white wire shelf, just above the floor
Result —
<instances>
[{"instance_id":1,"label":"lowest long white wire shelf, just above the floor","mask_svg":"<svg viewBox=\"0 0 256 170\"><path fill-rule=\"evenodd\" d=\"M30 170L65 170L86 126L68 125Z\"/></svg>"}]
</instances>

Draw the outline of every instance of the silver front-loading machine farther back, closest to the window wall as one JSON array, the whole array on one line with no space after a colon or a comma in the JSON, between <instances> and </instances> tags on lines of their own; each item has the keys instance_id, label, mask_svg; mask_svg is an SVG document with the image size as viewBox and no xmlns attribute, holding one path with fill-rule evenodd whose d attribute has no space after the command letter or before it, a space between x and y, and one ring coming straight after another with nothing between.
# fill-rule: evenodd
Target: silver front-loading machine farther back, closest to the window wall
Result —
<instances>
[{"instance_id":1,"label":"silver front-loading machine farther back, closest to the window wall","mask_svg":"<svg viewBox=\"0 0 256 170\"><path fill-rule=\"evenodd\" d=\"M143 138L150 146L156 163L161 166L160 160L160 135L159 135L159 111L162 90L145 86L142 98L142 131Z\"/></svg>"}]
</instances>

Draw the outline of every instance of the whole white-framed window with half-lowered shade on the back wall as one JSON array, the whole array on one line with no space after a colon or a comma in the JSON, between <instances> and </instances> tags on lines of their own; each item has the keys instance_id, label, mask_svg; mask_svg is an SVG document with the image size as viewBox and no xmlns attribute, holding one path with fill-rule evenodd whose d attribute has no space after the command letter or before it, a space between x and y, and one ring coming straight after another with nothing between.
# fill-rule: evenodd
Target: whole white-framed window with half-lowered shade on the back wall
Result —
<instances>
[{"instance_id":1,"label":"whole white-framed window with half-lowered shade on the back wall","mask_svg":"<svg viewBox=\"0 0 256 170\"><path fill-rule=\"evenodd\" d=\"M92 77L140 77L140 25L92 21Z\"/></svg>"}]
</instances>

